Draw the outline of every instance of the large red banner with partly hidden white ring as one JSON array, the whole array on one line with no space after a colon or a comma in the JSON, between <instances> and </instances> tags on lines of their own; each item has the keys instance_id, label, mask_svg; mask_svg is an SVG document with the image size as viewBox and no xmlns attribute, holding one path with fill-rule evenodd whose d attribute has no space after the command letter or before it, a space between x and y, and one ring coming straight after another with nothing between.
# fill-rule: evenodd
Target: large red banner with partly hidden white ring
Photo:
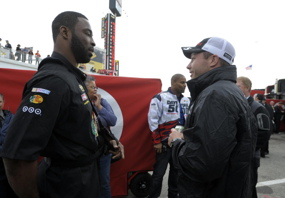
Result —
<instances>
[{"instance_id":1,"label":"large red banner with partly hidden white ring","mask_svg":"<svg viewBox=\"0 0 285 198\"><path fill-rule=\"evenodd\" d=\"M15 114L23 88L35 71L0 68L0 92L7 109ZM98 93L112 106L118 118L112 132L124 145L125 159L111 164L110 184L113 197L126 196L128 172L153 169L155 151L148 127L148 109L152 97L161 92L160 79L94 75ZM109 99L110 98L110 99ZM110 101L109 101L110 100Z\"/></svg>"}]
</instances>

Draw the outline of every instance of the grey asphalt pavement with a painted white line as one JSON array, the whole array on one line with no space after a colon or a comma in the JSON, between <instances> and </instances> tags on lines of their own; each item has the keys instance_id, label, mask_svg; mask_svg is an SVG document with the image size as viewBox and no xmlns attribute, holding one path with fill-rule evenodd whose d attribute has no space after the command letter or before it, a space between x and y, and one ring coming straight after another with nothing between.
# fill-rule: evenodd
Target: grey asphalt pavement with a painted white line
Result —
<instances>
[{"instance_id":1,"label":"grey asphalt pavement with a painted white line","mask_svg":"<svg viewBox=\"0 0 285 198\"><path fill-rule=\"evenodd\" d=\"M160 197L167 197L167 178L169 167L163 178L162 192ZM152 172L149 172L152 174ZM258 198L285 198L285 132L281 135L271 135L269 140L269 154L260 159L257 183ZM128 191L125 198L135 198Z\"/></svg>"}]
</instances>

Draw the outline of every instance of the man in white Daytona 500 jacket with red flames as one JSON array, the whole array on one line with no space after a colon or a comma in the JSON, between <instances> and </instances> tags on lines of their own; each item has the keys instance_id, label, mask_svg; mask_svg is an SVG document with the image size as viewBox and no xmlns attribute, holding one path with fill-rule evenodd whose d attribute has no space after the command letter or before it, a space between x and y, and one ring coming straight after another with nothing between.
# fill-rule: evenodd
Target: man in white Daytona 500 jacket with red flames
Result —
<instances>
[{"instance_id":1,"label":"man in white Daytona 500 jacket with red flames","mask_svg":"<svg viewBox=\"0 0 285 198\"><path fill-rule=\"evenodd\" d=\"M151 176L149 198L159 197L162 189L162 180L170 164L168 177L168 197L178 197L177 169L173 167L172 151L167 145L171 128L176 125L184 126L190 100L184 97L186 78L182 74L175 74L171 78L171 87L153 97L148 112L148 124L153 140L153 149L156 151L153 174Z\"/></svg>"}]
</instances>

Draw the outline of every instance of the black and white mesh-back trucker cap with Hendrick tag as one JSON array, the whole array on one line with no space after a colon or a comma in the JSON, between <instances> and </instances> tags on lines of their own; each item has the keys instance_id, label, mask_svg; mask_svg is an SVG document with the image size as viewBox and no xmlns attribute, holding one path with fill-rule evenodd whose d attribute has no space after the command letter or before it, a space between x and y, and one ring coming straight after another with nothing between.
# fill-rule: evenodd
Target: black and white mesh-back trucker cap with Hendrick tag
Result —
<instances>
[{"instance_id":1,"label":"black and white mesh-back trucker cap with Hendrick tag","mask_svg":"<svg viewBox=\"0 0 285 198\"><path fill-rule=\"evenodd\" d=\"M181 47L183 54L191 59L191 54L194 52L210 52L216 54L219 58L225 60L227 63L232 65L235 58L235 48L230 44L229 41L219 38L211 37L202 40L195 47Z\"/></svg>"}]
</instances>

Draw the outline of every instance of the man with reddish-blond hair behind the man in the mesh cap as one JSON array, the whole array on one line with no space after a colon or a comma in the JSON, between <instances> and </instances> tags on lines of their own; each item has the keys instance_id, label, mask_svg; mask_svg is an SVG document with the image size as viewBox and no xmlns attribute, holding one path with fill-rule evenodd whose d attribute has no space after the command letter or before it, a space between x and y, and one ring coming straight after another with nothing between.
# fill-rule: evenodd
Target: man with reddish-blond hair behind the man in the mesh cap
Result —
<instances>
[{"instance_id":1,"label":"man with reddish-blond hair behind the man in the mesh cap","mask_svg":"<svg viewBox=\"0 0 285 198\"><path fill-rule=\"evenodd\" d=\"M251 110L254 113L254 116L258 123L258 133L257 133L257 142L254 154L254 174L253 174L253 192L252 197L257 198L256 184L257 184L257 169L260 166L260 156L261 156L261 148L268 142L271 134L271 120L270 114L267 109L257 101L255 101L250 95L251 91L251 80L247 77L240 76L237 79L237 85L240 87L240 90L245 95L248 104L251 107ZM265 157L265 156L264 156Z\"/></svg>"}]
</instances>

